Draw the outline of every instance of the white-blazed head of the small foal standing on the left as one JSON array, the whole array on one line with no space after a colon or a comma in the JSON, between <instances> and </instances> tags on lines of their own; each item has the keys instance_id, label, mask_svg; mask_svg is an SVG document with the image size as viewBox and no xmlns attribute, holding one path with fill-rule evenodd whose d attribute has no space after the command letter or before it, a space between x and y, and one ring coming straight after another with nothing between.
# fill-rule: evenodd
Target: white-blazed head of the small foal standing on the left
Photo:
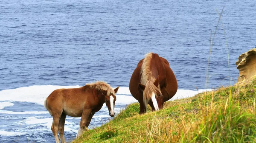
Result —
<instances>
[{"instance_id":1,"label":"white-blazed head of the small foal standing on the left","mask_svg":"<svg viewBox=\"0 0 256 143\"><path fill-rule=\"evenodd\" d=\"M108 94L104 94L105 95L105 103L108 107L108 111L109 111L109 115L111 117L114 117L115 115L115 101L116 101L116 93L117 93L117 90L119 89L119 87L116 87L116 89L114 89L114 92L115 93L110 93L109 95ZM103 91L104 92L104 91Z\"/></svg>"}]
</instances>

